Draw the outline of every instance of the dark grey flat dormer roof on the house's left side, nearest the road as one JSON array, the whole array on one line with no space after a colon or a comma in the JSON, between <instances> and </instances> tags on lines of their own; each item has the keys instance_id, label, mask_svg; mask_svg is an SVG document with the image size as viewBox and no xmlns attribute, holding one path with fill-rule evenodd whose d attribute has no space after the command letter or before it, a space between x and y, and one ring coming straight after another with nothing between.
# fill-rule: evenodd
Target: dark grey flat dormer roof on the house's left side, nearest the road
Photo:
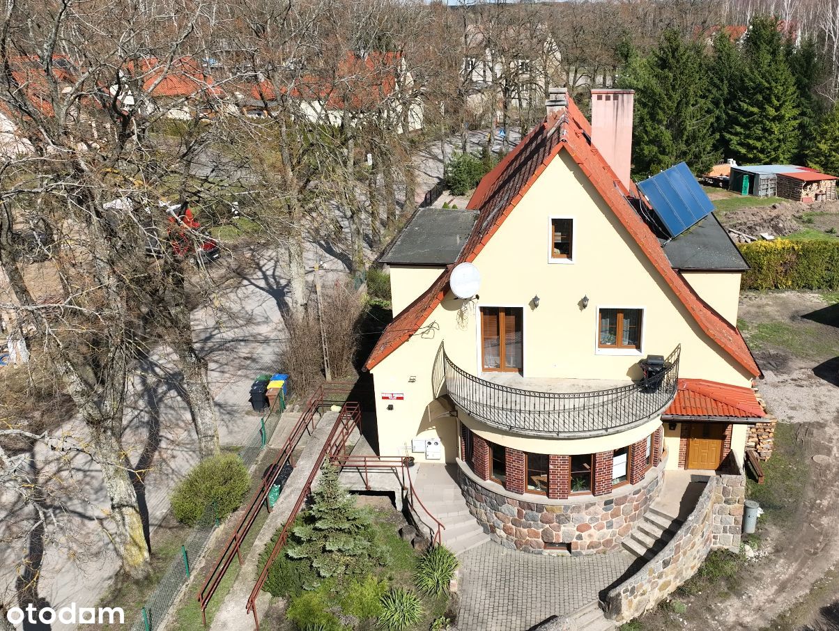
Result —
<instances>
[{"instance_id":1,"label":"dark grey flat dormer roof on the house's left side, nearest the road","mask_svg":"<svg viewBox=\"0 0 839 631\"><path fill-rule=\"evenodd\" d=\"M420 208L378 258L388 265L448 265L475 225L475 211Z\"/></svg>"}]
</instances>

